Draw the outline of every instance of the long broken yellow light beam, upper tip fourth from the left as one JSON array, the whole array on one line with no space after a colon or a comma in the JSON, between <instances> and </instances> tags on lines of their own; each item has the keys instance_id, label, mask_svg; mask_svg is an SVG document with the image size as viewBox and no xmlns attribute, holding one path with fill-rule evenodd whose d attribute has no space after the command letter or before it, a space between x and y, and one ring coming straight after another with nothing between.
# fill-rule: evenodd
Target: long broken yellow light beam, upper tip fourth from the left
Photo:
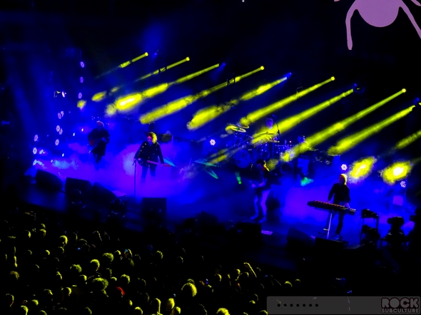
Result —
<instances>
[{"instance_id":1,"label":"long broken yellow light beam, upper tip fourth from the left","mask_svg":"<svg viewBox=\"0 0 421 315\"><path fill-rule=\"evenodd\" d=\"M253 73L256 73L258 71L262 70L261 68L258 68L256 70L250 71L249 73L243 74L243 76L239 76L238 78L242 79L247 76L250 76ZM191 103L196 102L196 100L200 98L205 98L210 93L214 93L221 88L225 88L227 86L227 83L220 83L218 86L213 86L213 88L209 88L208 90L203 90L199 93L196 93L194 95L188 95L183 98L179 98L178 100L173 100L170 103L167 103L165 105L162 105L154 110L151 110L149 113L141 115L141 123L151 123L153 121L156 121L158 119L161 119L163 117L166 117L168 115L172 115L173 113L178 112L179 110L182 110L183 108L186 108Z\"/></svg>"}]
</instances>

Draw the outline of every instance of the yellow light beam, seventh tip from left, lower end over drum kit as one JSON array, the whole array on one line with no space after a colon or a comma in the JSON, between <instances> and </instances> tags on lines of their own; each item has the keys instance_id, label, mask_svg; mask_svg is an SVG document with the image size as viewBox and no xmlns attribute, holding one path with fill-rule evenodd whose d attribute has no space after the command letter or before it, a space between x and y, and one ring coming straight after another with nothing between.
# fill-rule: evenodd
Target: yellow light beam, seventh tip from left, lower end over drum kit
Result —
<instances>
[{"instance_id":1,"label":"yellow light beam, seventh tip from left, lower end over drum kit","mask_svg":"<svg viewBox=\"0 0 421 315\"><path fill-rule=\"evenodd\" d=\"M293 115L289 118L286 118L284 120L281 120L278 122L279 126L279 132L285 133L286 131L290 130L291 128L295 127L299 123L302 123L304 120L310 118L311 116L315 115L316 113L320 112L320 110L324 110L328 106L338 102L338 100L341 100L342 98L345 98L346 96L350 95L353 92L352 89L345 91L344 93L341 93L339 95L336 95L333 98L330 98L330 100L326 100L323 103L320 103L319 105L315 105L312 108L309 108L308 110L303 111L302 113L298 113L297 115ZM252 143L257 143L260 138L263 137L263 133L268 132L268 128L262 128L258 131L255 135L253 135L253 141ZM278 130L277 130L278 131Z\"/></svg>"}]
</instances>

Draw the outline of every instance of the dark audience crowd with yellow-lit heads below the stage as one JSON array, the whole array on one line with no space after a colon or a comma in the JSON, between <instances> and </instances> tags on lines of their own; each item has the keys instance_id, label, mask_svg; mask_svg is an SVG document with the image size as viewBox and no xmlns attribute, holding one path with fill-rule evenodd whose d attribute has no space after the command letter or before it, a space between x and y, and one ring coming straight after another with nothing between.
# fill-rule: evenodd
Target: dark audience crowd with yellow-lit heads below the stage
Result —
<instances>
[{"instance_id":1,"label":"dark audience crowd with yellow-lit heads below the stage","mask_svg":"<svg viewBox=\"0 0 421 315\"><path fill-rule=\"evenodd\" d=\"M315 293L294 274L278 281L263 267L198 254L166 228L123 239L22 209L0 215L2 315L261 315L268 296ZM347 294L344 281L317 284L328 288L318 293Z\"/></svg>"}]
</instances>

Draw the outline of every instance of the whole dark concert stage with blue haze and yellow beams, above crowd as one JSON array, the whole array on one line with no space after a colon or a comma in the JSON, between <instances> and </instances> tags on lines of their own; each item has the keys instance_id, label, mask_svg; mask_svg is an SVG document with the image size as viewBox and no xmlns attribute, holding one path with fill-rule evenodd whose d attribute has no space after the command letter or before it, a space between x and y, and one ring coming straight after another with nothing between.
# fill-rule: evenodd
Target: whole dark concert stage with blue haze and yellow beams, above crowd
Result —
<instances>
[{"instance_id":1,"label":"whole dark concert stage with blue haze and yellow beams, above crowd","mask_svg":"<svg viewBox=\"0 0 421 315\"><path fill-rule=\"evenodd\" d=\"M10 30L0 34L3 200L83 228L111 220L141 232L158 220L175 230L194 218L212 234L204 246L233 230L245 259L294 270L288 243L325 238L328 212L308 202L328 202L345 174L355 213L340 246L378 235L386 247L393 217L413 229L416 1L379 14L358 0L65 2L0 4ZM88 143L97 121L110 135L98 164ZM133 157L148 132L167 166L141 182ZM273 180L262 223L250 219L260 159Z\"/></svg>"}]
</instances>

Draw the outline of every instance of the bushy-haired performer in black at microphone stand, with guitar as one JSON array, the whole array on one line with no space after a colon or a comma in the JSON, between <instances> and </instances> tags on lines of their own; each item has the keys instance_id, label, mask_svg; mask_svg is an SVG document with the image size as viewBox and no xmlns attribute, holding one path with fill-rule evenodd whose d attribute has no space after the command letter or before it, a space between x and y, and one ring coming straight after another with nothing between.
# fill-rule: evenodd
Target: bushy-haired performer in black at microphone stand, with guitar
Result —
<instances>
[{"instance_id":1,"label":"bushy-haired performer in black at microphone stand, with guitar","mask_svg":"<svg viewBox=\"0 0 421 315\"><path fill-rule=\"evenodd\" d=\"M146 180L148 169L151 176L155 177L156 166L158 164L158 158L161 161L161 164L164 164L161 146L159 145L158 142L156 142L156 140L158 140L158 138L156 137L156 134L149 132L146 135L148 137L147 140L143 141L141 146L136 151L136 154L134 155L134 159L133 159L133 160L138 160L139 165L142 166L142 175L141 175L142 182L145 182Z\"/></svg>"}]
</instances>

